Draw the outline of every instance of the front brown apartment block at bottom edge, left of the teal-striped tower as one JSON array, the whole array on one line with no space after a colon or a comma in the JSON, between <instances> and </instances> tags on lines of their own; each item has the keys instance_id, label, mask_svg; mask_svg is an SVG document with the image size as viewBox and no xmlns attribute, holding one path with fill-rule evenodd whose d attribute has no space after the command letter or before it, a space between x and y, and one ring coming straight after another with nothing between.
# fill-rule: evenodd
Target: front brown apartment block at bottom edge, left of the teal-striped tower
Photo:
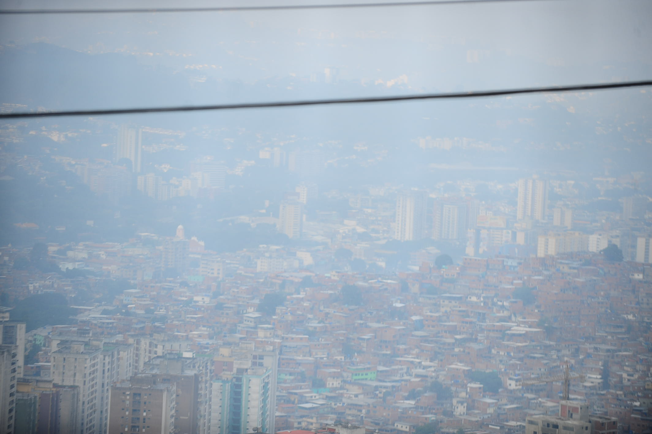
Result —
<instances>
[{"instance_id":1,"label":"front brown apartment block at bottom edge, left of the teal-striped tower","mask_svg":"<svg viewBox=\"0 0 652 434\"><path fill-rule=\"evenodd\" d=\"M177 394L175 383L139 374L111 387L108 434L173 434Z\"/></svg>"}]
</instances>

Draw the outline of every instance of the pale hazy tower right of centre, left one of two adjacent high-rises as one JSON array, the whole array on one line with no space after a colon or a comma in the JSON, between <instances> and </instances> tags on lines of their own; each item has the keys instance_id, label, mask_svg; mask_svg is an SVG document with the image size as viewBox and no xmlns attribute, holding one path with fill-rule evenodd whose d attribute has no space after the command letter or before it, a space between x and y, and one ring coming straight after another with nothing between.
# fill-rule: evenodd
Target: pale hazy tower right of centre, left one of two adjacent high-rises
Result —
<instances>
[{"instance_id":1,"label":"pale hazy tower right of centre, left one of two adjacent high-rises","mask_svg":"<svg viewBox=\"0 0 652 434\"><path fill-rule=\"evenodd\" d=\"M396 197L394 238L399 241L421 240L426 232L426 204L424 191L404 191Z\"/></svg>"}]
</instances>

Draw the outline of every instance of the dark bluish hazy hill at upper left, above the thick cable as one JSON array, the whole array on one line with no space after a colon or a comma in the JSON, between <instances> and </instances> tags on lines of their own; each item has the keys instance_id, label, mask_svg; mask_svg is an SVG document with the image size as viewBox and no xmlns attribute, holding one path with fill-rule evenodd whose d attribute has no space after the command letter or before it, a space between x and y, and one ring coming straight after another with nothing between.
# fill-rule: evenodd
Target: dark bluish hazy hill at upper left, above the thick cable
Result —
<instances>
[{"instance_id":1,"label":"dark bluish hazy hill at upper left, above the thick cable","mask_svg":"<svg viewBox=\"0 0 652 434\"><path fill-rule=\"evenodd\" d=\"M121 54L85 54L52 44L0 52L1 102L50 109L143 106L192 101L182 74Z\"/></svg>"}]
</instances>

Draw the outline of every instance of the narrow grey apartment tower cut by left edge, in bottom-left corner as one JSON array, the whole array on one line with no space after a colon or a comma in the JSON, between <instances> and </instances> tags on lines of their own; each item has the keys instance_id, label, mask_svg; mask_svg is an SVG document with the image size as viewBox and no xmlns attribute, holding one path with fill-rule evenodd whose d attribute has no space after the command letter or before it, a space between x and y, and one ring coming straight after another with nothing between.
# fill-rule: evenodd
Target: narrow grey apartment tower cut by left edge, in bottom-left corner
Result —
<instances>
[{"instance_id":1,"label":"narrow grey apartment tower cut by left edge, in bottom-left corner","mask_svg":"<svg viewBox=\"0 0 652 434\"><path fill-rule=\"evenodd\" d=\"M18 347L0 345L0 434L14 434Z\"/></svg>"}]
</instances>

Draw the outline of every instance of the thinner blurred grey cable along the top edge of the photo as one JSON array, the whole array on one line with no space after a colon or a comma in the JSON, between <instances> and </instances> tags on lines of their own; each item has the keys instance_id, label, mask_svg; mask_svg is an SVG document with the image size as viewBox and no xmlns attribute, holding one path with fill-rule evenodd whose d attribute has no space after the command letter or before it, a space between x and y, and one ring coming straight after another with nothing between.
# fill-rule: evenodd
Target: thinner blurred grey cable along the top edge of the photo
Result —
<instances>
[{"instance_id":1,"label":"thinner blurred grey cable along the top edge of the photo","mask_svg":"<svg viewBox=\"0 0 652 434\"><path fill-rule=\"evenodd\" d=\"M126 9L0 9L0 15L8 14L135 14L153 12L235 12L238 10L293 10L293 9L341 9L378 8L400 6L456 5L469 3L506 3L542 0L440 0L406 1L390 3L337 3L333 5L277 5L277 6L224 6L199 8L126 8ZM552 0L549 0L552 1Z\"/></svg>"}]
</instances>

